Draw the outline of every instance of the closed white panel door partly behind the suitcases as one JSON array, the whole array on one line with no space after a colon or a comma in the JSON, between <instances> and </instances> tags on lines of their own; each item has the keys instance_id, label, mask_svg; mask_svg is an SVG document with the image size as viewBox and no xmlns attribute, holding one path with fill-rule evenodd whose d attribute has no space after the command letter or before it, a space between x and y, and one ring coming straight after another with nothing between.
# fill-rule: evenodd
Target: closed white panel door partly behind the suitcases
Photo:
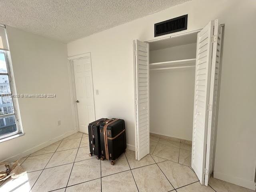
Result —
<instances>
[{"instance_id":1,"label":"closed white panel door partly behind the suitcases","mask_svg":"<svg viewBox=\"0 0 256 192\"><path fill-rule=\"evenodd\" d=\"M91 58L73 60L79 131L88 133L88 124L95 121Z\"/></svg>"}]
</instances>

